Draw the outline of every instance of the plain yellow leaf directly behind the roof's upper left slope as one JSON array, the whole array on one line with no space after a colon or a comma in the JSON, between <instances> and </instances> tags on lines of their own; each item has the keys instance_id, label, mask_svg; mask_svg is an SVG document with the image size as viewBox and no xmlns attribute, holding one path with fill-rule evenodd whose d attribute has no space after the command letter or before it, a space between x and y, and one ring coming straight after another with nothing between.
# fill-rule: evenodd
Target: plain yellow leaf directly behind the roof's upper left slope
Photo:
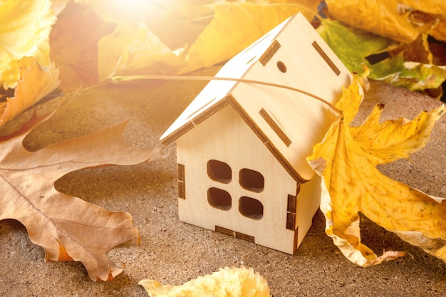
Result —
<instances>
[{"instance_id":1,"label":"plain yellow leaf directly behind the roof's upper left slope","mask_svg":"<svg viewBox=\"0 0 446 297\"><path fill-rule=\"evenodd\" d=\"M299 11L307 19L313 16L301 6L286 4L277 6L219 2L212 7L214 18L190 47L186 58L189 67L182 73L229 60Z\"/></svg>"}]
</instances>

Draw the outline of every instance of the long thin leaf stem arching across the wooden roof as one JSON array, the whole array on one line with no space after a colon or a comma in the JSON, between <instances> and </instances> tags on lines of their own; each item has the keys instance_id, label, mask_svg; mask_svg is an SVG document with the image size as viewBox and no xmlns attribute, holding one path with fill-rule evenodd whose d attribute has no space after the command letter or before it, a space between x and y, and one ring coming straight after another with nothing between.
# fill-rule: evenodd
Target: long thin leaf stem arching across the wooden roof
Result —
<instances>
[{"instance_id":1,"label":"long thin leaf stem arching across the wooden roof","mask_svg":"<svg viewBox=\"0 0 446 297\"><path fill-rule=\"evenodd\" d=\"M128 76L113 76L111 78L111 81L113 83L125 83L132 80L225 80L225 81L237 81L239 83L251 83L256 85L268 85L270 87L274 88L281 88L286 90L292 90L297 93L302 93L304 95L307 95L311 98L314 98L321 103L327 105L329 108L334 110L338 115L343 117L342 110L339 108L336 108L335 105L329 103L327 100L324 100L323 98L319 97L318 95L314 95L312 93L307 92L306 90L301 90L298 88L291 87L289 85L280 85L278 83L267 83L265 81L261 80L250 80L250 79L244 79L244 78L222 78L217 76L187 76L187 75L128 75Z\"/></svg>"}]
</instances>

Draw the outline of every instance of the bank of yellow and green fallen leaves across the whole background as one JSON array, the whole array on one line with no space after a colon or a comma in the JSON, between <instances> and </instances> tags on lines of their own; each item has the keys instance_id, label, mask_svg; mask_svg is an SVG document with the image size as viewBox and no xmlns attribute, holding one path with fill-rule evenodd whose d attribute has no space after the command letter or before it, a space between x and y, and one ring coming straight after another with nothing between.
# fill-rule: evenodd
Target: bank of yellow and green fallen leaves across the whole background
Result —
<instances>
[{"instance_id":1,"label":"bank of yellow and green fallen leaves across the whole background","mask_svg":"<svg viewBox=\"0 0 446 297\"><path fill-rule=\"evenodd\" d=\"M19 65L29 57L54 82L61 80L64 93L113 76L189 73L229 60L299 11L313 21L319 2L11 0L0 6L0 83L13 89L19 81L32 85ZM351 71L440 98L446 79L442 1L326 4L333 19L318 16L318 31ZM368 61L382 53L390 57ZM57 86L48 85L45 93Z\"/></svg>"}]
</instances>

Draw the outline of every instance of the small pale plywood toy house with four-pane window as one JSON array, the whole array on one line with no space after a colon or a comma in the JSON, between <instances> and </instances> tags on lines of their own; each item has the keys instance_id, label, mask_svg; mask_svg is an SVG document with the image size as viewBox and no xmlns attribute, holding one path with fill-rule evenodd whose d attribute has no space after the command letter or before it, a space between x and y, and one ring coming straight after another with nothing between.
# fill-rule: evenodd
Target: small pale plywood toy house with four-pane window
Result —
<instances>
[{"instance_id":1,"label":"small pale plywood toy house with four-pane window","mask_svg":"<svg viewBox=\"0 0 446 297\"><path fill-rule=\"evenodd\" d=\"M328 102L351 83L351 73L301 14L216 76L288 85ZM177 141L180 220L294 254L321 194L306 157L334 116L293 90L211 80L160 138Z\"/></svg>"}]
</instances>

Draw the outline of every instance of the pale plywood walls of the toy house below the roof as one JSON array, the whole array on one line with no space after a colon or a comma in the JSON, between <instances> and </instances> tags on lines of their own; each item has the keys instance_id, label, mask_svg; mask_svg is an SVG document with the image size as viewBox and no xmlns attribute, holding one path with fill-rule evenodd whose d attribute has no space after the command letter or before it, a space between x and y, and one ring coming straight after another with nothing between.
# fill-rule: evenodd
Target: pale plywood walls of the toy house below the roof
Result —
<instances>
[{"instance_id":1,"label":"pale plywood walls of the toy house below the roof","mask_svg":"<svg viewBox=\"0 0 446 297\"><path fill-rule=\"evenodd\" d=\"M207 166L209 160L224 162L230 167L231 177L220 180L209 177ZM300 244L311 226L311 218L319 203L318 192L313 191L312 187L318 182L304 184L300 189L301 194L297 197L298 219L295 225L301 226L299 226L300 236L296 242L294 231L286 229L286 213L288 196L296 196L298 184L231 105L217 111L177 140L177 162L180 166L184 165L184 178L180 179L184 179L185 191L180 196L185 196L185 199L178 199L179 217L182 222L211 230L219 226L222 227L220 231L223 230L224 233L235 231L240 234L239 237L248 240L254 237L256 244L289 254L294 253L296 244ZM262 174L263 190L259 192L254 188L244 189L239 176L241 170L242 172L253 170L254 173ZM223 174L227 175L227 172ZM224 205L223 209L219 209L209 204L209 188L217 189L215 190L217 192L226 191L231 197L230 207ZM308 196L302 199L304 192ZM263 205L261 219L241 214L240 197L249 197L261 202Z\"/></svg>"}]
</instances>

